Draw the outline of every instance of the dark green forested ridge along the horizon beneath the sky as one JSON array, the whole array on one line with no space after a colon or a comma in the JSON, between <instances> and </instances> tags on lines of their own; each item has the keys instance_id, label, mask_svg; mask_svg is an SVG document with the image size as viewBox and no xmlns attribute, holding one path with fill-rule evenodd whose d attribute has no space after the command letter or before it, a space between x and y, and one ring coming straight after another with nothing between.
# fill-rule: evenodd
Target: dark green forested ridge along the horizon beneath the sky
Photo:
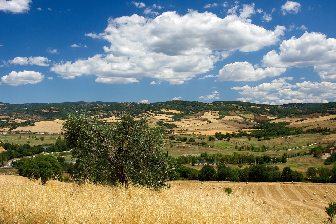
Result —
<instances>
[{"instance_id":1,"label":"dark green forested ridge along the horizon beneath the sky","mask_svg":"<svg viewBox=\"0 0 336 224\"><path fill-rule=\"evenodd\" d=\"M336 102L330 103L295 103L286 105L266 105L241 101L214 101L203 103L198 101L167 101L156 103L137 102L62 102L62 103L24 103L10 104L0 103L0 115L27 117L33 120L44 120L66 117L69 111L86 111L92 114L106 111L107 113L119 113L121 111L137 116L149 111L170 109L183 112L182 116L191 116L205 110L219 111L221 116L229 116L229 111L249 112L255 115L290 117L300 115L310 115L314 113L334 114ZM168 113L169 114L169 113ZM174 114L174 116L177 116Z\"/></svg>"}]
</instances>

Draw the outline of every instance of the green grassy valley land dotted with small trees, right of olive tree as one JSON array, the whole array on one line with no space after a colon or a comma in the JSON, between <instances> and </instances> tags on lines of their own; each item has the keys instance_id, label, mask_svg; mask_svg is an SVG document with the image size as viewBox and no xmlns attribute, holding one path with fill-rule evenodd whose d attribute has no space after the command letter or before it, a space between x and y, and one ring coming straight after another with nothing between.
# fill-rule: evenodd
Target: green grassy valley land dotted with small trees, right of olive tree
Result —
<instances>
[{"instance_id":1,"label":"green grassy valley land dotted with small trees, right of olive tree","mask_svg":"<svg viewBox=\"0 0 336 224\"><path fill-rule=\"evenodd\" d=\"M222 132L223 133L223 132ZM168 134L166 137L173 135ZM233 152L237 153L254 153L255 155L261 155L261 154L267 154L269 156L279 156L284 153L291 154L291 153L304 153L308 152L310 148L316 147L318 144L322 144L322 146L326 146L328 144L328 141L331 144L334 144L336 141L336 134L332 135L321 135L321 134L303 134L303 135L293 135L288 136L286 139L285 137L279 137L279 138L273 138L270 140L262 140L258 141L257 138L252 138L250 141L247 138L230 138L230 141L224 141L224 140L215 140L215 141L209 141L208 136L202 136L202 135L173 135L176 137L186 137L187 139L194 137L196 142L206 142L208 145L213 145L214 147L204 147L204 146L195 146L190 145L187 143L178 143L174 140L168 140L165 144L165 150L168 150L169 155L178 157L182 154L188 154L188 153L202 153L205 152L205 149L207 149L208 154L213 153L222 153L222 154L232 154ZM197 137L204 137L205 140L198 140ZM293 140L291 140L293 139ZM170 141L170 142L169 142ZM311 146L307 146L310 145ZM171 147L173 145L173 147ZM237 150L235 149L235 146L241 147L244 146L244 150ZM262 145L269 146L270 150L268 151L248 151L245 150L245 145L253 145L254 147L260 147ZM274 146L274 147L273 147ZM286 148L288 150L286 150ZM278 150L279 149L279 150Z\"/></svg>"}]
</instances>

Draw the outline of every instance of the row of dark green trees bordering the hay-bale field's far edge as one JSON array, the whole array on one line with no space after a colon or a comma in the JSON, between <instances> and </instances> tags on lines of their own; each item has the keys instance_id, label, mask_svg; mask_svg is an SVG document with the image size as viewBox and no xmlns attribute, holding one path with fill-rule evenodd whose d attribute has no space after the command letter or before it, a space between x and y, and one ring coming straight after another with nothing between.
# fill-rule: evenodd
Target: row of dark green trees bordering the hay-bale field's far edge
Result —
<instances>
[{"instance_id":1,"label":"row of dark green trees bordering the hay-bale field's far edge","mask_svg":"<svg viewBox=\"0 0 336 224\"><path fill-rule=\"evenodd\" d=\"M293 171L290 167L285 167L281 172L278 166L266 164L254 164L244 169L232 168L224 163L217 165L216 169L212 165L204 165L200 171L179 165L175 169L176 180L200 180L200 181L256 181L273 182L287 181L300 182L302 180L316 183L336 183L336 165L332 169L326 167L309 167L306 177L303 173Z\"/></svg>"}]
</instances>

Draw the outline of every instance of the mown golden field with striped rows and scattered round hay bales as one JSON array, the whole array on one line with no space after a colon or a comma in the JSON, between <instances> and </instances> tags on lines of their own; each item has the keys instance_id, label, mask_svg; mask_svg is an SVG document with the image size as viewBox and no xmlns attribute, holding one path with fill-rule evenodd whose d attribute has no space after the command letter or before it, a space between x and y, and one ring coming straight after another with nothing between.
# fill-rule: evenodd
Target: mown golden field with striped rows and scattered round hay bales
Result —
<instances>
[{"instance_id":1,"label":"mown golden field with striped rows and scattered round hay bales","mask_svg":"<svg viewBox=\"0 0 336 224\"><path fill-rule=\"evenodd\" d=\"M181 185L179 186L179 184ZM293 185L290 182L285 184L280 184L280 182L249 182L246 184L246 182L228 181L209 181L201 184L200 181L175 181L171 185L174 191L190 189L203 192L205 195L211 195L218 191L225 193L223 187L230 187L236 197L249 197L255 203L264 207L282 207L288 209L288 212L308 209L325 215L328 201L336 201L336 184L295 183ZM254 193L252 193L253 191ZM313 195L313 193L316 193L316 195ZM327 197L324 197L324 195ZM311 200L311 198L313 199Z\"/></svg>"}]
</instances>

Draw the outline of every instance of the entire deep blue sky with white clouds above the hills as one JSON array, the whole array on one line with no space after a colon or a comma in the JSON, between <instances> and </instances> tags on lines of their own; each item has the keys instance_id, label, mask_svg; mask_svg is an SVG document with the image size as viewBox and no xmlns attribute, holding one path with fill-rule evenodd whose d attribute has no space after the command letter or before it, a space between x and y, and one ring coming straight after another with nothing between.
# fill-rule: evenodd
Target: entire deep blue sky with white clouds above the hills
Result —
<instances>
[{"instance_id":1,"label":"entire deep blue sky with white clouds above the hills","mask_svg":"<svg viewBox=\"0 0 336 224\"><path fill-rule=\"evenodd\" d=\"M0 101L336 100L335 1L0 0Z\"/></svg>"}]
</instances>

